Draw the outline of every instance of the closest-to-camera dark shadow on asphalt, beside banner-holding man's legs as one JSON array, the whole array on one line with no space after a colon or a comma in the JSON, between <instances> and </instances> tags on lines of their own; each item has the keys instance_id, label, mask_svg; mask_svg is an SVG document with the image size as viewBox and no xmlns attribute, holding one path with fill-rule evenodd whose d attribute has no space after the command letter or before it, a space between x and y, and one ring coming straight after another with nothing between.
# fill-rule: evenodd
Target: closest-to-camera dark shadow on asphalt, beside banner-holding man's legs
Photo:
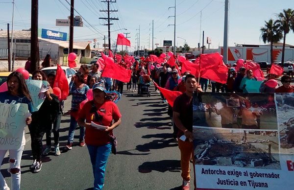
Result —
<instances>
[{"instance_id":1,"label":"closest-to-camera dark shadow on asphalt, beside banner-holding man's legs","mask_svg":"<svg viewBox=\"0 0 294 190\"><path fill-rule=\"evenodd\" d=\"M160 172L180 172L181 166L180 166L179 160L161 160L156 162L145 162L141 166L138 167L138 170L140 173L149 173L152 170L160 171Z\"/></svg>"}]
</instances>

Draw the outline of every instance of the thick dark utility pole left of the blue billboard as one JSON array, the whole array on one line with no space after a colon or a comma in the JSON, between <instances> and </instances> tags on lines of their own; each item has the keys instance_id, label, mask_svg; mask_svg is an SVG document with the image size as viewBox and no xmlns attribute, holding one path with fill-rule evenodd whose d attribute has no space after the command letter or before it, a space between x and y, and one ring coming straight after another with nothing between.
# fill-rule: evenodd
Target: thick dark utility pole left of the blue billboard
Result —
<instances>
[{"instance_id":1,"label":"thick dark utility pole left of the blue billboard","mask_svg":"<svg viewBox=\"0 0 294 190\"><path fill-rule=\"evenodd\" d=\"M39 67L39 39L38 39L38 7L39 0L32 0L31 4L31 71L36 71Z\"/></svg>"}]
</instances>

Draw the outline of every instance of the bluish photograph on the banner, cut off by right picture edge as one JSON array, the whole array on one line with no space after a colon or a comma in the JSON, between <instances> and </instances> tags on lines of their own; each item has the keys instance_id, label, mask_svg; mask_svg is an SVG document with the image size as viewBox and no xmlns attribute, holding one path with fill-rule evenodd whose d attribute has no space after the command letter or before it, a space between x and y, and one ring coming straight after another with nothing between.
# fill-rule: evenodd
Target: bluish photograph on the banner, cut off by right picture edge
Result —
<instances>
[{"instance_id":1,"label":"bluish photograph on the banner, cut off by right picture edge","mask_svg":"<svg viewBox=\"0 0 294 190\"><path fill-rule=\"evenodd\" d=\"M275 94L280 152L294 154L294 93Z\"/></svg>"}]
</instances>

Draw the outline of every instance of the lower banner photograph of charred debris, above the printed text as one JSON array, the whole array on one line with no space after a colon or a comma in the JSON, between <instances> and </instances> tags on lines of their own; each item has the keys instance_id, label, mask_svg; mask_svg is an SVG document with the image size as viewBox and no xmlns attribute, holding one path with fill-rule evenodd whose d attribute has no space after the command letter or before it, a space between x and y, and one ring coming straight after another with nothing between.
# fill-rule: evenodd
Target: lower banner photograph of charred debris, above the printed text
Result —
<instances>
[{"instance_id":1,"label":"lower banner photograph of charred debris, above the printed text","mask_svg":"<svg viewBox=\"0 0 294 190\"><path fill-rule=\"evenodd\" d=\"M281 169L277 131L194 127L196 165Z\"/></svg>"}]
</instances>

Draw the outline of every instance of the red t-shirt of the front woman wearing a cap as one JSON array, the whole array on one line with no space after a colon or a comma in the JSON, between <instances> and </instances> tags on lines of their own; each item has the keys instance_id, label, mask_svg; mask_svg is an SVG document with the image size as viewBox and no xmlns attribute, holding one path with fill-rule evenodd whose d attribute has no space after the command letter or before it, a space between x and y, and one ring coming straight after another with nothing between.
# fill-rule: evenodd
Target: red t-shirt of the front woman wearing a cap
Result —
<instances>
[{"instance_id":1,"label":"red t-shirt of the front woman wearing a cap","mask_svg":"<svg viewBox=\"0 0 294 190\"><path fill-rule=\"evenodd\" d=\"M110 127L112 125L113 119L117 121L122 117L118 106L110 100L106 100L103 104L95 103L95 106L96 106L98 114L102 118L101 123L99 123L98 121L94 121L95 123L99 125ZM86 119L87 123L91 123L93 116L95 116L95 113L91 113L91 108L92 108L92 101L86 102L80 112L79 118ZM109 131L109 134L113 135L112 130ZM105 131L92 129L92 128L86 128L85 142L86 144L89 144L89 145L101 146L101 145L108 144L110 141Z\"/></svg>"}]
</instances>

